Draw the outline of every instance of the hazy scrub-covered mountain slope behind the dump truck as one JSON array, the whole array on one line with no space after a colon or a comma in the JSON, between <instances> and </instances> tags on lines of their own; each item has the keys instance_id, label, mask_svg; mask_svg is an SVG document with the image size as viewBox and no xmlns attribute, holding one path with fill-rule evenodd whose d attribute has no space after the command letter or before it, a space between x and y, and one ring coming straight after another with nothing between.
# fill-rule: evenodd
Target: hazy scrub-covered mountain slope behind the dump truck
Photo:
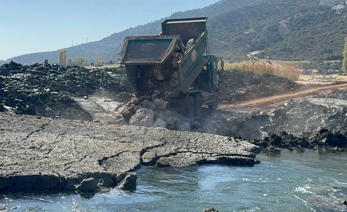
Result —
<instances>
[{"instance_id":1,"label":"hazy scrub-covered mountain slope behind the dump truck","mask_svg":"<svg viewBox=\"0 0 347 212\"><path fill-rule=\"evenodd\" d=\"M125 36L153 35L169 18L209 17L211 53L242 60L248 52L279 60L340 60L347 26L346 0L221 0L202 9L114 33L102 40L66 48L68 57L117 59ZM11 58L20 63L57 61L58 51Z\"/></svg>"}]
</instances>

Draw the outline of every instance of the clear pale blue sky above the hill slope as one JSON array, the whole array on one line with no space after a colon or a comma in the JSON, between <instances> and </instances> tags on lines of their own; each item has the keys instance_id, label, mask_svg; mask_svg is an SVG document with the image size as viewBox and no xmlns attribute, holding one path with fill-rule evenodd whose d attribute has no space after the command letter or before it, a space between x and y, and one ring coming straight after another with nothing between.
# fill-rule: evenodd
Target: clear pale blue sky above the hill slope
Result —
<instances>
[{"instance_id":1,"label":"clear pale blue sky above the hill slope","mask_svg":"<svg viewBox=\"0 0 347 212\"><path fill-rule=\"evenodd\" d=\"M0 60L100 40L218 0L0 0Z\"/></svg>"}]
</instances>

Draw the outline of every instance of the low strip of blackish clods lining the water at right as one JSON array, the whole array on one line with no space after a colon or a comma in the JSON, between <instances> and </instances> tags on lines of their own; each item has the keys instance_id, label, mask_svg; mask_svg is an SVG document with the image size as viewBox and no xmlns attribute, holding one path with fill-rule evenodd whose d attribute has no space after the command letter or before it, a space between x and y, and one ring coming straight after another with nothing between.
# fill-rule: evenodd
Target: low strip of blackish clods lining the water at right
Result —
<instances>
[{"instance_id":1,"label":"low strip of blackish clods lining the water at right","mask_svg":"<svg viewBox=\"0 0 347 212\"><path fill-rule=\"evenodd\" d=\"M264 138L250 143L263 149L346 147L347 131L329 131L323 128L311 137L295 136L282 131L279 134L269 133Z\"/></svg>"}]
</instances>

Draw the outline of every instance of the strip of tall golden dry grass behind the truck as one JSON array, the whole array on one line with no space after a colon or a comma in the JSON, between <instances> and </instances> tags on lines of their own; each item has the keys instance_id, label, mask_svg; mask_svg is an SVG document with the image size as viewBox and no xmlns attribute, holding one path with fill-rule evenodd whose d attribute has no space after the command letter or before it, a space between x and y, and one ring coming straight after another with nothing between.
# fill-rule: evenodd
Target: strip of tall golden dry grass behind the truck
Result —
<instances>
[{"instance_id":1,"label":"strip of tall golden dry grass behind the truck","mask_svg":"<svg viewBox=\"0 0 347 212\"><path fill-rule=\"evenodd\" d=\"M286 77L289 80L298 80L300 69L295 63L286 62L283 64L269 64L264 61L242 61L226 62L224 69L238 69L242 71L251 71L256 74L271 74L275 76Z\"/></svg>"}]
</instances>

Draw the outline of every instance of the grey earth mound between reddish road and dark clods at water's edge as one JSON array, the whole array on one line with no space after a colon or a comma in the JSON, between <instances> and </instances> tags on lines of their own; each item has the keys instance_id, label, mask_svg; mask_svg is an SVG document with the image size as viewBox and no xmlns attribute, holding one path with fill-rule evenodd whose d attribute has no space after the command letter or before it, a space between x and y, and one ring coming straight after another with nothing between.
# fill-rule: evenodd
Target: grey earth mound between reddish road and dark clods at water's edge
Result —
<instances>
[{"instance_id":1,"label":"grey earth mound between reddish road and dark clods at water's edge","mask_svg":"<svg viewBox=\"0 0 347 212\"><path fill-rule=\"evenodd\" d=\"M345 130L347 107L334 106L331 99L289 100L273 111L271 123L262 127L265 132L280 133L285 130L293 134L310 136L320 128Z\"/></svg>"}]
</instances>

